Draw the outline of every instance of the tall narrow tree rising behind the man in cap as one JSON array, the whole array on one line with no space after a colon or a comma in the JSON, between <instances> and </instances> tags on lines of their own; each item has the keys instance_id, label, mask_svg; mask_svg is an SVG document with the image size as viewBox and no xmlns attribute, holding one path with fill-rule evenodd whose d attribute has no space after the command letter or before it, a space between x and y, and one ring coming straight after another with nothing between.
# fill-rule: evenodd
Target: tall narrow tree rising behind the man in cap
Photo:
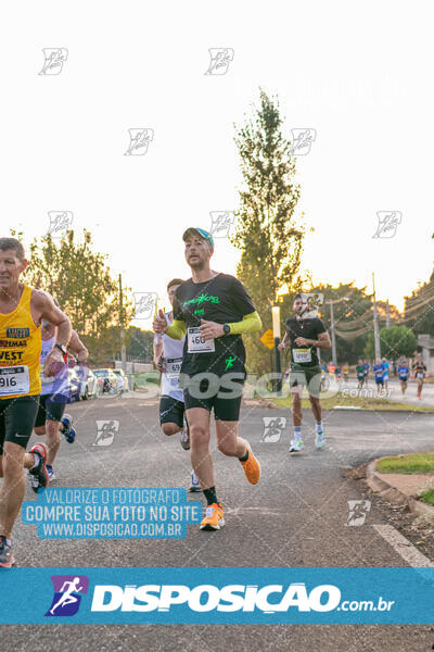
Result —
<instances>
[{"instance_id":1,"label":"tall narrow tree rising behind the man in cap","mask_svg":"<svg viewBox=\"0 0 434 652\"><path fill-rule=\"evenodd\" d=\"M282 133L279 102L260 90L259 105L244 125L235 125L235 145L244 186L240 189L237 231L238 277L258 311L264 330L271 325L271 306L282 288L301 280L305 226L296 216L301 189L295 183L291 142ZM248 368L269 369L269 353L257 334L244 338Z\"/></svg>"}]
</instances>

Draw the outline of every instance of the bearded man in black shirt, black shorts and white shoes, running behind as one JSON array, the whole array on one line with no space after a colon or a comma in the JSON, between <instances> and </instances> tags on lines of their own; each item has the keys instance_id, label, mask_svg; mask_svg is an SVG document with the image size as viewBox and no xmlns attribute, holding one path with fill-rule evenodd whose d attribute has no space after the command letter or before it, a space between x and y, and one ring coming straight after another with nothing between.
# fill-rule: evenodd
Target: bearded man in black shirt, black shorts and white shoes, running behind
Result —
<instances>
[{"instance_id":1,"label":"bearded man in black shirt, black shorts and white shoes, running behind","mask_svg":"<svg viewBox=\"0 0 434 652\"><path fill-rule=\"evenodd\" d=\"M306 305L302 294L294 300L294 317L286 319L286 333L279 344L282 350L288 343L291 346L291 392L292 418L294 437L291 441L290 452L294 453L304 448L302 439L302 392L306 385L309 392L310 405L317 423L315 446L322 448L326 443L321 421L321 405L319 394L321 391L321 368L319 366L317 348L331 349L329 334L318 317L303 318Z\"/></svg>"}]
</instances>

